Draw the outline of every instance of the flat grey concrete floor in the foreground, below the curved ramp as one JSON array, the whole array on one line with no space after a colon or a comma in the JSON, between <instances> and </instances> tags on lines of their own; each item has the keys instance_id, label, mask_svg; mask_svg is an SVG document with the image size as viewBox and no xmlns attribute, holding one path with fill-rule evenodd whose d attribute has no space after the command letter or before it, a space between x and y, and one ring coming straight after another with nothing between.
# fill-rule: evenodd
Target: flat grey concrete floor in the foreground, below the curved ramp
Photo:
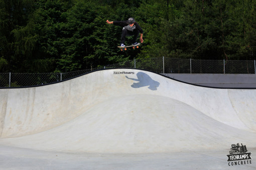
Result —
<instances>
[{"instance_id":1,"label":"flat grey concrete floor in the foreground, below the curved ramp","mask_svg":"<svg viewBox=\"0 0 256 170\"><path fill-rule=\"evenodd\" d=\"M170 153L64 153L0 145L0 169L255 169L228 165L226 150ZM256 150L250 150L253 152ZM254 157L252 157L254 158Z\"/></svg>"}]
</instances>

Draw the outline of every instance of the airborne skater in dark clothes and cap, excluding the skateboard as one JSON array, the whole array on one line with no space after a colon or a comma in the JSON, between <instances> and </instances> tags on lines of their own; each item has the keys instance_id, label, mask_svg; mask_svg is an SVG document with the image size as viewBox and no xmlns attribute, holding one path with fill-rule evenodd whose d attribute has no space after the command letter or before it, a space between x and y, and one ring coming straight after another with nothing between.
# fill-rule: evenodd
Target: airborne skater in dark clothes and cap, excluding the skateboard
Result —
<instances>
[{"instance_id":1,"label":"airborne skater in dark clothes and cap, excluding the skateboard","mask_svg":"<svg viewBox=\"0 0 256 170\"><path fill-rule=\"evenodd\" d=\"M135 21L135 19L133 17L130 17L128 20L121 20L121 21L106 20L106 22L108 24L123 26L120 46L125 46L124 45L125 36L133 36L133 35L134 35L134 38L133 38L133 41L132 41L132 45L140 44L140 43L137 42L137 38L139 36L139 33L141 33L140 41L143 42L143 38L142 38L143 29L139 25L139 23Z\"/></svg>"}]
</instances>

